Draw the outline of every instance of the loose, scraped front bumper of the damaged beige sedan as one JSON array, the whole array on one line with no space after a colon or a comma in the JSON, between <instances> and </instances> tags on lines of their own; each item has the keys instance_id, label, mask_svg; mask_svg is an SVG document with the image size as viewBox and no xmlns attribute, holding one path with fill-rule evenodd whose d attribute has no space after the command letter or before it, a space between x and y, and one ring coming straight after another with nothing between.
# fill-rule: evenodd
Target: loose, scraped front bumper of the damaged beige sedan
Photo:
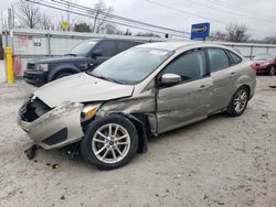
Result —
<instances>
[{"instance_id":1,"label":"loose, scraped front bumper of the damaged beige sedan","mask_svg":"<svg viewBox=\"0 0 276 207\"><path fill-rule=\"evenodd\" d=\"M81 126L82 103L64 102L34 121L24 120L24 113L28 112L24 111L24 107L25 105L20 109L18 123L38 145L45 150L68 145L84 137Z\"/></svg>"}]
</instances>

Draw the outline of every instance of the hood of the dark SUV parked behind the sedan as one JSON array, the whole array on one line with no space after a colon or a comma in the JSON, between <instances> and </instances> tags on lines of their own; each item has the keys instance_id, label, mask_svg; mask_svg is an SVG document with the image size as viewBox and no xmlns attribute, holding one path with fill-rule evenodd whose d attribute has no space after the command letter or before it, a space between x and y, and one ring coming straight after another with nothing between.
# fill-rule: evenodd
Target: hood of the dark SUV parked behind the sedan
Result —
<instances>
[{"instance_id":1,"label":"hood of the dark SUV parked behind the sedan","mask_svg":"<svg viewBox=\"0 0 276 207\"><path fill-rule=\"evenodd\" d=\"M47 58L39 58L31 59L29 63L33 64L51 64L51 63L68 63L68 62L78 62L78 61L87 61L88 57L82 56L60 56L60 57L47 57Z\"/></svg>"}]
</instances>

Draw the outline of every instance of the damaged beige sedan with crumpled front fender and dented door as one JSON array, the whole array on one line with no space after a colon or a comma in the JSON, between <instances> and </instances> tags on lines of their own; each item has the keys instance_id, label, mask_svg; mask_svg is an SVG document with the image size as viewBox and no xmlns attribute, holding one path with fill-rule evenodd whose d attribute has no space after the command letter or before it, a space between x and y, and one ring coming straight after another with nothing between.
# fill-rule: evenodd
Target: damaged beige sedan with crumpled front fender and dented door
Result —
<instances>
[{"instance_id":1,"label":"damaged beige sedan with crumpled front fender and dented door","mask_svg":"<svg viewBox=\"0 0 276 207\"><path fill-rule=\"evenodd\" d=\"M223 111L241 116L255 86L251 62L231 48L142 44L41 87L18 121L43 149L76 143L88 163L109 170L145 152L150 135Z\"/></svg>"}]
</instances>

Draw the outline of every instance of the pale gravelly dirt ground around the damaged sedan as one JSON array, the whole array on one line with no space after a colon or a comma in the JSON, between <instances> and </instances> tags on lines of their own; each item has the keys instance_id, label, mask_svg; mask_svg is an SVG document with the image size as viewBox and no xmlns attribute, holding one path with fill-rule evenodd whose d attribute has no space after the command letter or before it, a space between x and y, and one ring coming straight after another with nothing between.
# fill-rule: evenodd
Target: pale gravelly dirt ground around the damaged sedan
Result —
<instances>
[{"instance_id":1,"label":"pale gravelly dirt ground around the damaged sedan","mask_svg":"<svg viewBox=\"0 0 276 207\"><path fill-rule=\"evenodd\" d=\"M257 77L242 117L217 115L166 133L119 170L98 171L60 151L24 154L15 122L33 87L0 84L0 206L276 206L276 85ZM52 164L59 164L52 168Z\"/></svg>"}]
</instances>

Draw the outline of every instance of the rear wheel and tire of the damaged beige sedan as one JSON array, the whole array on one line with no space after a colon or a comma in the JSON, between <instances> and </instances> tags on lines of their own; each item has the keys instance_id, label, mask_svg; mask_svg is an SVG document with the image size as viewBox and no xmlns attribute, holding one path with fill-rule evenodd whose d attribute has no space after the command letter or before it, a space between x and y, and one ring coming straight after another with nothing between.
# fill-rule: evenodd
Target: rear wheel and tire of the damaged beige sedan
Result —
<instances>
[{"instance_id":1,"label":"rear wheel and tire of the damaged beige sedan","mask_svg":"<svg viewBox=\"0 0 276 207\"><path fill-rule=\"evenodd\" d=\"M236 92L232 97L230 105L227 107L227 113L232 117L241 116L247 107L248 99L250 99L248 88L246 86L242 86L236 90Z\"/></svg>"}]
</instances>

